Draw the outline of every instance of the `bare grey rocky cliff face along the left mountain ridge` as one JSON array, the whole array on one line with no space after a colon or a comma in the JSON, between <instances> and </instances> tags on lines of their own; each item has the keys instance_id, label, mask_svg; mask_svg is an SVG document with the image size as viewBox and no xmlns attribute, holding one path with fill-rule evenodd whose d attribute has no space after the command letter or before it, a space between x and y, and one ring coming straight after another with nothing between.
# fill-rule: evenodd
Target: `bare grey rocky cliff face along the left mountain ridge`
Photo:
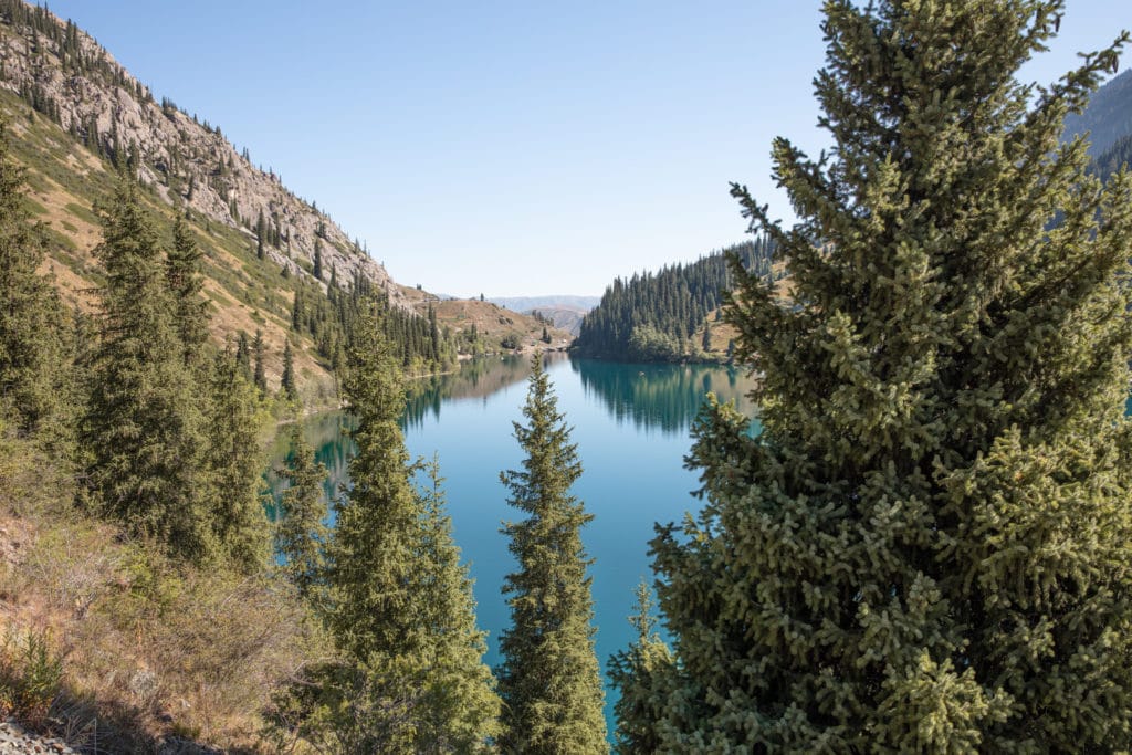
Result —
<instances>
[{"instance_id":1,"label":"bare grey rocky cliff face along the left mountain ridge","mask_svg":"<svg viewBox=\"0 0 1132 755\"><path fill-rule=\"evenodd\" d=\"M398 286L326 214L257 169L218 127L157 102L97 42L70 22L22 0L0 0L0 87L55 121L87 148L178 207L246 234L264 256L303 274L320 248L324 280L368 278L405 306Z\"/></svg>"}]
</instances>

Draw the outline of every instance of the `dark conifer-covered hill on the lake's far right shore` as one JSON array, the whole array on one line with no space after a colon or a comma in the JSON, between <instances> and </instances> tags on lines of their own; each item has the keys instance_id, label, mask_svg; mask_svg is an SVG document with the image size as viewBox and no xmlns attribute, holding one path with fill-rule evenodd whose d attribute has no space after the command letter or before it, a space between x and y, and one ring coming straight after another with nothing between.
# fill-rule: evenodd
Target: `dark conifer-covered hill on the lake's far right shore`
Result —
<instances>
[{"instance_id":1,"label":"dark conifer-covered hill on the lake's far right shore","mask_svg":"<svg viewBox=\"0 0 1132 755\"><path fill-rule=\"evenodd\" d=\"M703 344L694 334L707 315L723 303L732 286L729 257L763 277L773 275L774 242L747 241L702 257L691 265L674 265L659 273L617 278L582 320L573 350L581 357L681 361L702 358Z\"/></svg>"}]
</instances>

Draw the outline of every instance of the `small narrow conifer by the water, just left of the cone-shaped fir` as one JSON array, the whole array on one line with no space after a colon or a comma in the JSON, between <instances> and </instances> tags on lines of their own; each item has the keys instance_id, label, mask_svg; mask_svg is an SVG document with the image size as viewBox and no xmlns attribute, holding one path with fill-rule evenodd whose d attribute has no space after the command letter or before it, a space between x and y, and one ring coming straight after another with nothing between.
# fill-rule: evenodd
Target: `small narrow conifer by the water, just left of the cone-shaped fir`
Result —
<instances>
[{"instance_id":1,"label":"small narrow conifer by the water, just left of the cone-shaped fir","mask_svg":"<svg viewBox=\"0 0 1132 755\"><path fill-rule=\"evenodd\" d=\"M323 607L326 577L328 527L323 523L326 504L323 483L326 466L315 460L315 451L302 437L298 422L291 430L290 464L278 471L288 481L280 499L275 527L275 551L282 557L280 569L305 600Z\"/></svg>"}]
</instances>

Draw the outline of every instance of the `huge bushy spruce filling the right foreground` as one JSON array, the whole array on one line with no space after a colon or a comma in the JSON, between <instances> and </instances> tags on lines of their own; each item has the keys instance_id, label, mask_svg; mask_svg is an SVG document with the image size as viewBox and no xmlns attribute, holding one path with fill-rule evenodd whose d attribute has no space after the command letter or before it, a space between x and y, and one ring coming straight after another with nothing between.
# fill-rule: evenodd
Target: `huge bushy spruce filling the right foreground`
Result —
<instances>
[{"instance_id":1,"label":"huge bushy spruce filling the right foreground","mask_svg":"<svg viewBox=\"0 0 1132 755\"><path fill-rule=\"evenodd\" d=\"M1062 10L825 3L832 157L774 144L803 221L734 190L794 288L729 309L763 432L709 407L707 504L653 542L660 749L1129 747L1132 181L1058 145L1115 48L1014 79Z\"/></svg>"}]
</instances>

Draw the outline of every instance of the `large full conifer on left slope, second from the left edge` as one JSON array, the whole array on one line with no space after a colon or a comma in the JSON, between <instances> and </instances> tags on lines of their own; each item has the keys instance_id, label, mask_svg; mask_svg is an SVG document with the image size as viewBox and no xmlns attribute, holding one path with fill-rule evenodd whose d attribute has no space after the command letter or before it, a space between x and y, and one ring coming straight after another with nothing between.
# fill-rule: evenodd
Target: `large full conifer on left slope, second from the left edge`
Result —
<instances>
[{"instance_id":1,"label":"large full conifer on left slope, second from the left edge","mask_svg":"<svg viewBox=\"0 0 1132 755\"><path fill-rule=\"evenodd\" d=\"M95 506L174 554L212 551L196 496L200 417L183 368L157 237L134 183L100 208L106 273L83 441Z\"/></svg>"}]
</instances>

